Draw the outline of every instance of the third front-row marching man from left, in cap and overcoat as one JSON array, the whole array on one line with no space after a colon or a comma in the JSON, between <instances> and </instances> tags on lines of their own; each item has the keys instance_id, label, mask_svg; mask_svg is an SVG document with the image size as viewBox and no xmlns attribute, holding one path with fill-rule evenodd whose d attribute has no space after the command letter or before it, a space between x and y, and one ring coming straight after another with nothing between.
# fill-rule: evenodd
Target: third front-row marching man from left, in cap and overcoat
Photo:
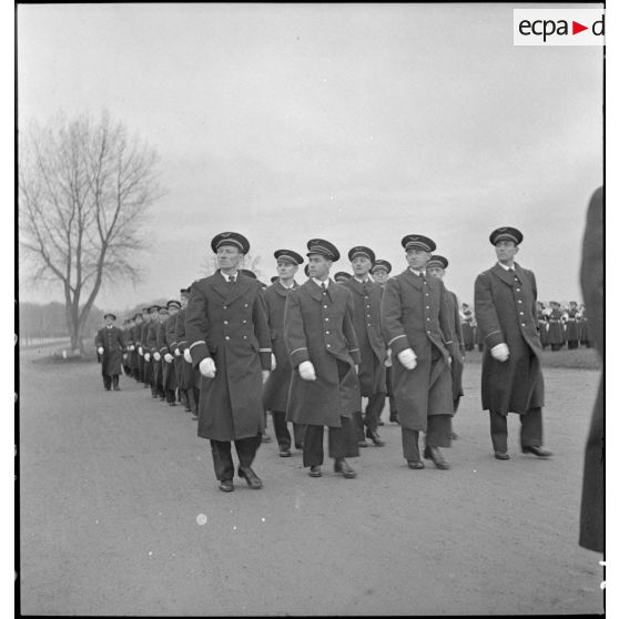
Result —
<instances>
[{"instance_id":1,"label":"third front-row marching man from left, in cap and overcoat","mask_svg":"<svg viewBox=\"0 0 619 619\"><path fill-rule=\"evenodd\" d=\"M448 469L440 447L451 445L454 397L449 364L454 356L445 285L426 265L436 244L420 234L402 240L408 268L389 278L383 296L383 336L392 348L394 394L402 426L404 457L424 468L419 432L426 433L424 457Z\"/></svg>"}]
</instances>

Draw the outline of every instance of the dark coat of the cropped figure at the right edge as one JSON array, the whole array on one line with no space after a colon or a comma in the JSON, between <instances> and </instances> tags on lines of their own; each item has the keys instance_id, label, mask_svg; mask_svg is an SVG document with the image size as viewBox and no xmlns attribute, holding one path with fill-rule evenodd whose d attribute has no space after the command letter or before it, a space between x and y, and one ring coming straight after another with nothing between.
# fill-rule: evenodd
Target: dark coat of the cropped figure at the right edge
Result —
<instances>
[{"instance_id":1,"label":"dark coat of the cropped figure at the right edge","mask_svg":"<svg viewBox=\"0 0 619 619\"><path fill-rule=\"evenodd\" d=\"M605 341L605 240L603 240L603 190L600 187L591 197L587 213L587 227L582 240L580 287L589 317L590 337L603 364ZM580 546L603 552L603 469L605 469L605 373L600 376L598 396L593 405L587 448L582 500L580 505Z\"/></svg>"}]
</instances>

